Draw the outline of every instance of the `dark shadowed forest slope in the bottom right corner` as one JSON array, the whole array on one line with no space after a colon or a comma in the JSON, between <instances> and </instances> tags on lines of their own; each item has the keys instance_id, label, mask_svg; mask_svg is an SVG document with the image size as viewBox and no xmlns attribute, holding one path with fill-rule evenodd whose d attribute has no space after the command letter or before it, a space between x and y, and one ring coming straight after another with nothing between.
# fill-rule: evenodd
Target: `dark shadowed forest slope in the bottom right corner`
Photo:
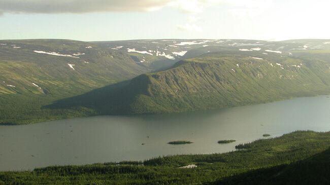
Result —
<instances>
[{"instance_id":1,"label":"dark shadowed forest slope in the bottom right corner","mask_svg":"<svg viewBox=\"0 0 330 185\"><path fill-rule=\"evenodd\" d=\"M330 149L295 163L253 170L211 184L330 184L329 159Z\"/></svg>"}]
</instances>

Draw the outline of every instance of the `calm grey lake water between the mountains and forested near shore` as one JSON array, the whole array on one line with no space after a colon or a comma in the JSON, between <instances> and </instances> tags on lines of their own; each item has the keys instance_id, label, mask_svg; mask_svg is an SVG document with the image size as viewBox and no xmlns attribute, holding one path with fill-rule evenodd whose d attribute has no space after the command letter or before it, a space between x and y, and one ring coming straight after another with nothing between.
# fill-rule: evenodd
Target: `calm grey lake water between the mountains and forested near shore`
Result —
<instances>
[{"instance_id":1,"label":"calm grey lake water between the mountains and forested near shore","mask_svg":"<svg viewBox=\"0 0 330 185\"><path fill-rule=\"evenodd\" d=\"M197 113L100 116L0 126L0 170L223 153L265 133L274 137L295 130L329 131L330 98L294 98ZM218 144L221 139L237 141ZM173 140L193 143L167 144Z\"/></svg>"}]
</instances>

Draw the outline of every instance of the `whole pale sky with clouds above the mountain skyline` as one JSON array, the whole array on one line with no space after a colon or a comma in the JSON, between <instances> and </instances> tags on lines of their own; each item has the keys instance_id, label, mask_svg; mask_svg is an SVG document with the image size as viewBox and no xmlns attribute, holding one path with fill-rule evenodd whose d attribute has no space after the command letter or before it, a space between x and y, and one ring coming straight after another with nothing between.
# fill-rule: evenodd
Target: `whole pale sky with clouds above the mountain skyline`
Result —
<instances>
[{"instance_id":1,"label":"whole pale sky with clouds above the mountain skyline","mask_svg":"<svg viewBox=\"0 0 330 185\"><path fill-rule=\"evenodd\" d=\"M0 0L0 40L330 39L329 0Z\"/></svg>"}]
</instances>

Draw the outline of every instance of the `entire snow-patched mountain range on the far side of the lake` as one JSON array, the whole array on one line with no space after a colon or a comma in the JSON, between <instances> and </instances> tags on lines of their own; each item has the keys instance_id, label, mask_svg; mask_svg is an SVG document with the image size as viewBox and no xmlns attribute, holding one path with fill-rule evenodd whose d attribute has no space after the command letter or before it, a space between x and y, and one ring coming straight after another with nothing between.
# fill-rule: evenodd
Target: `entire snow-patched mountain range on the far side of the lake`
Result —
<instances>
[{"instance_id":1,"label":"entire snow-patched mountain range on the far side of the lake","mask_svg":"<svg viewBox=\"0 0 330 185\"><path fill-rule=\"evenodd\" d=\"M0 124L330 93L329 40L0 41Z\"/></svg>"}]
</instances>

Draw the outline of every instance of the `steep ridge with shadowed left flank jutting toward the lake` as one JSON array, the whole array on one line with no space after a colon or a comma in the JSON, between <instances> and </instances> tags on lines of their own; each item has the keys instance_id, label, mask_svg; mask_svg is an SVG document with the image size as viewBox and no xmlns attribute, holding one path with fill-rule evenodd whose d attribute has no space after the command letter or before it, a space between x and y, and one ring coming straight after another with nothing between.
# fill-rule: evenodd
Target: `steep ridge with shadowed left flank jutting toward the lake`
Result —
<instances>
[{"instance_id":1,"label":"steep ridge with shadowed left flank jutting toward the lake","mask_svg":"<svg viewBox=\"0 0 330 185\"><path fill-rule=\"evenodd\" d=\"M103 88L58 101L53 108L88 107L102 115L174 113L328 94L329 67L322 57L222 51L146 73L116 91Z\"/></svg>"}]
</instances>

